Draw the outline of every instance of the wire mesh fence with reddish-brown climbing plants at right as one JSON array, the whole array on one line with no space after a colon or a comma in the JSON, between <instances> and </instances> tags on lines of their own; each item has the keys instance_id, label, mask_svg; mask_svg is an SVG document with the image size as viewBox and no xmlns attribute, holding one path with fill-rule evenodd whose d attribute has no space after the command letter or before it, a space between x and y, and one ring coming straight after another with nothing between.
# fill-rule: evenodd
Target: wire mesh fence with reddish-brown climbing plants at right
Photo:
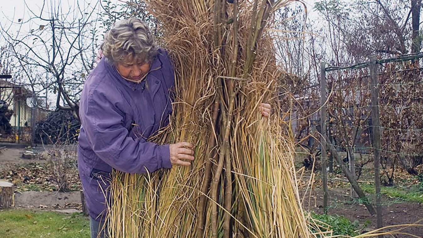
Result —
<instances>
[{"instance_id":1,"label":"wire mesh fence with reddish-brown climbing plants at right","mask_svg":"<svg viewBox=\"0 0 423 238\"><path fill-rule=\"evenodd\" d=\"M354 201L376 205L378 220L382 205L418 200L423 191L421 57L418 53L346 67L323 65L321 82L302 88L295 98L293 131L299 145L309 152L303 164L316 165L312 160L321 158L323 190L328 183L325 173L342 168L346 178L336 179L364 191ZM326 147L327 155L322 151ZM334 159L334 154L340 158ZM364 170L375 170L375 180L363 180ZM399 170L406 171L407 181L420 190L397 194L394 201L381 200L381 194L392 194L389 186L404 180ZM331 179L333 176L329 183L333 183ZM353 197L355 192L352 188ZM325 207L333 205L324 203ZM378 221L378 227L381 223Z\"/></svg>"}]
</instances>

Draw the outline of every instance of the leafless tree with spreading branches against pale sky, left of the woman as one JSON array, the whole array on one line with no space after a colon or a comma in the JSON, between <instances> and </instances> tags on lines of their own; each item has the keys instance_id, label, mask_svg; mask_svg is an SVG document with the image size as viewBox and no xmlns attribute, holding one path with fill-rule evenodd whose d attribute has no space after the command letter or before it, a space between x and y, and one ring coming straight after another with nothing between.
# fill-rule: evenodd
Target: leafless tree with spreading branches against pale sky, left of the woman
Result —
<instances>
[{"instance_id":1,"label":"leafless tree with spreading branches against pale sky, left of the woman","mask_svg":"<svg viewBox=\"0 0 423 238\"><path fill-rule=\"evenodd\" d=\"M1 25L1 33L11 47L11 54L33 92L55 94L56 109L71 110L79 118L79 94L86 76L94 66L97 50L96 4L63 6L60 1L43 1L30 16ZM25 31L25 27L36 28ZM10 33L18 26L17 33ZM38 105L41 106L41 105Z\"/></svg>"}]
</instances>

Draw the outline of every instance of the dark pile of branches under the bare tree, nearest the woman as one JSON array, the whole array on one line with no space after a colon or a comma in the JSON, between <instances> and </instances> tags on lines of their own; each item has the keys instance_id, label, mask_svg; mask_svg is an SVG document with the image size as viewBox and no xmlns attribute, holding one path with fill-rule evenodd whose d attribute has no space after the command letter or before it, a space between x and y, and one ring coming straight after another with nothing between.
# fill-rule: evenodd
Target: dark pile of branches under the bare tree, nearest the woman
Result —
<instances>
[{"instance_id":1,"label":"dark pile of branches under the bare tree, nearest the woman","mask_svg":"<svg viewBox=\"0 0 423 238\"><path fill-rule=\"evenodd\" d=\"M78 141L81 123L71 111L58 110L36 125L34 142L39 144L73 144Z\"/></svg>"}]
</instances>

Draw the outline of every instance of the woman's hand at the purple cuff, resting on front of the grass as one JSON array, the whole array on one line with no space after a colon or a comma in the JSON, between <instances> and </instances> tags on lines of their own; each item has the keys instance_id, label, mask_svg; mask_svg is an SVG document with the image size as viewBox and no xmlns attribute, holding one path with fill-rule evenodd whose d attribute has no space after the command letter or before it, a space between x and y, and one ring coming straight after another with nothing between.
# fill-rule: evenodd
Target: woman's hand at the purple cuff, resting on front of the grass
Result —
<instances>
[{"instance_id":1,"label":"woman's hand at the purple cuff, resting on front of the grass","mask_svg":"<svg viewBox=\"0 0 423 238\"><path fill-rule=\"evenodd\" d=\"M188 142L178 142L175 144L170 144L170 164L190 166L191 163L189 161L184 160L194 160L194 150L192 150L193 147L194 145Z\"/></svg>"}]
</instances>

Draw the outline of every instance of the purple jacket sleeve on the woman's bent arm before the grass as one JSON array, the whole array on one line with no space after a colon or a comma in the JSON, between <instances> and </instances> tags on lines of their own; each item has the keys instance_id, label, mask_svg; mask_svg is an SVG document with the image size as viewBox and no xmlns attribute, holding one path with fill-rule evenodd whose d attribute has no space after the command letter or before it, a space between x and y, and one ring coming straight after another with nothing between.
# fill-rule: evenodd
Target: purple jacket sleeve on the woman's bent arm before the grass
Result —
<instances>
[{"instance_id":1,"label":"purple jacket sleeve on the woman's bent arm before the grass","mask_svg":"<svg viewBox=\"0 0 423 238\"><path fill-rule=\"evenodd\" d=\"M102 93L91 93L81 118L94 153L116 170L130 173L170 168L169 145L133 139L123 125L124 113Z\"/></svg>"}]
</instances>

